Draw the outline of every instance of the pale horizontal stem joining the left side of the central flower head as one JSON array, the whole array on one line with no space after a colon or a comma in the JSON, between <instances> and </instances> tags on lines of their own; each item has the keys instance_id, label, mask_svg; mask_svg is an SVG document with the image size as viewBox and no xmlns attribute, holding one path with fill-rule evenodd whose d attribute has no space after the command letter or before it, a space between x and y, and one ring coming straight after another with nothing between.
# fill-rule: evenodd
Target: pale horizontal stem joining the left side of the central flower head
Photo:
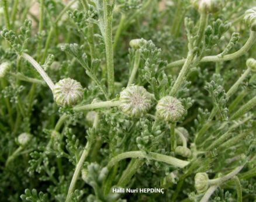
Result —
<instances>
[{"instance_id":1,"label":"pale horizontal stem joining the left side of the central flower head","mask_svg":"<svg viewBox=\"0 0 256 202\"><path fill-rule=\"evenodd\" d=\"M106 101L106 102L97 102L84 106L76 106L73 108L74 112L83 112L86 110L99 109L105 107L116 107L119 106L119 101Z\"/></svg>"}]
</instances>

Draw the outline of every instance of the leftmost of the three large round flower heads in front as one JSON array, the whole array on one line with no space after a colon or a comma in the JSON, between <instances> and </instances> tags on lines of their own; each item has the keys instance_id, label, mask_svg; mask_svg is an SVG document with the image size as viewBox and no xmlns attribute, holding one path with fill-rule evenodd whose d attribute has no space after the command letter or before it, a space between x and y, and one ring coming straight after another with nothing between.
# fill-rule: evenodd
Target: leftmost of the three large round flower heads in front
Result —
<instances>
[{"instance_id":1,"label":"leftmost of the three large round flower heads in front","mask_svg":"<svg viewBox=\"0 0 256 202\"><path fill-rule=\"evenodd\" d=\"M74 79L61 79L53 89L56 103L63 107L71 107L82 101L84 90L81 84Z\"/></svg>"}]
</instances>

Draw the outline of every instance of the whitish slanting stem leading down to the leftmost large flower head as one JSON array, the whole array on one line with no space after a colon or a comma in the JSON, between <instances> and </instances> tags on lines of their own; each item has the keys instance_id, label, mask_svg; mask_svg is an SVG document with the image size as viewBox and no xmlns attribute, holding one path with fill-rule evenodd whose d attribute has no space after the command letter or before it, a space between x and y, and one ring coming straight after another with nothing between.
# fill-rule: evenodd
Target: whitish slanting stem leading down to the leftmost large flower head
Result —
<instances>
[{"instance_id":1,"label":"whitish slanting stem leading down to the leftmost large flower head","mask_svg":"<svg viewBox=\"0 0 256 202\"><path fill-rule=\"evenodd\" d=\"M33 65L33 67L39 72L39 74L44 79L44 81L46 81L46 83L49 86L49 88L51 90L53 90L54 89L53 81L51 81L50 77L46 74L46 72L43 70L43 68L41 68L41 66L37 63L37 61L35 61L30 55L28 55L26 53L22 53L21 56L23 58L25 58L27 61L29 61L30 64Z\"/></svg>"}]
</instances>

